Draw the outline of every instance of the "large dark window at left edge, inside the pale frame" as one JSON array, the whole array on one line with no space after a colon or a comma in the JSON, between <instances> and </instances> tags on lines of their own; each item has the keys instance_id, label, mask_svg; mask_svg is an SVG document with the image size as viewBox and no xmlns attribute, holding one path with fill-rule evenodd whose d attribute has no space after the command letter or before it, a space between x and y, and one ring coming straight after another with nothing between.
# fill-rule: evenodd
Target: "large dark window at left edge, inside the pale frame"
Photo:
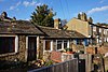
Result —
<instances>
[{"instance_id":1,"label":"large dark window at left edge, inside the pale frame","mask_svg":"<svg viewBox=\"0 0 108 72\"><path fill-rule=\"evenodd\" d=\"M0 54L15 52L15 37L0 37Z\"/></svg>"}]
</instances>

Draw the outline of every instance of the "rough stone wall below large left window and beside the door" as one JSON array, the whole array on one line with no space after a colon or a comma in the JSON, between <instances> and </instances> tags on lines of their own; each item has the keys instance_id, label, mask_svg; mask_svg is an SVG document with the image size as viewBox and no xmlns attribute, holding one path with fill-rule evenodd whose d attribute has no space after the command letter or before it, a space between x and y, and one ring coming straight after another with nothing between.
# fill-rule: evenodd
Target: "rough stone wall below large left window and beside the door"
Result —
<instances>
[{"instance_id":1,"label":"rough stone wall below large left window and beside the door","mask_svg":"<svg viewBox=\"0 0 108 72\"><path fill-rule=\"evenodd\" d=\"M18 51L17 53L8 53L0 55L0 60L6 61L26 61L25 60L26 53L26 35L18 35Z\"/></svg>"}]
</instances>

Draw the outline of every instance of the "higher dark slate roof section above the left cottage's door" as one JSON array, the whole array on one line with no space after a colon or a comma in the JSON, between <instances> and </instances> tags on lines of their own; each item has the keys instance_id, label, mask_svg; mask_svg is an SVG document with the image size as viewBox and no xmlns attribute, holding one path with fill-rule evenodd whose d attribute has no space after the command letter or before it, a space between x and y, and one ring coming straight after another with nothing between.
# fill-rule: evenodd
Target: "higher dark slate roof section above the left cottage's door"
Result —
<instances>
[{"instance_id":1,"label":"higher dark slate roof section above the left cottage's door","mask_svg":"<svg viewBox=\"0 0 108 72\"><path fill-rule=\"evenodd\" d=\"M0 33L9 34L43 34L30 21L16 20L15 23L0 23Z\"/></svg>"}]
</instances>

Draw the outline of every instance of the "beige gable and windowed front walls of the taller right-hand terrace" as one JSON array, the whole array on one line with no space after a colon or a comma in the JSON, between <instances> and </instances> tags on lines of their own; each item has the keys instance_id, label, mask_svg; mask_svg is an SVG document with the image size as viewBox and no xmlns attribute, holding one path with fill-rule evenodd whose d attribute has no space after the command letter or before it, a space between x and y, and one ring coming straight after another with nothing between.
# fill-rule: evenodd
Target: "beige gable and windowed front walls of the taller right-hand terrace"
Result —
<instances>
[{"instance_id":1,"label":"beige gable and windowed front walls of the taller right-hand terrace","mask_svg":"<svg viewBox=\"0 0 108 72\"><path fill-rule=\"evenodd\" d=\"M83 21L77 18L72 18L69 23L66 24L66 26L68 27L67 30L75 30L87 38L95 38L92 43L104 44L105 42L108 42L107 29L102 28L103 26L98 27L95 25L90 25L87 21Z\"/></svg>"}]
</instances>

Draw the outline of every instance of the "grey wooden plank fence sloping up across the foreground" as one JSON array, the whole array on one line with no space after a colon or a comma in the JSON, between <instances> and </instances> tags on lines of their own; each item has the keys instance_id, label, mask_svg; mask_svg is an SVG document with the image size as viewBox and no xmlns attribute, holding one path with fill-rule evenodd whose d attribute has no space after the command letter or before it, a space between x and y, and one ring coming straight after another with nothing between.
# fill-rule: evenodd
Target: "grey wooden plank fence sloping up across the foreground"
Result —
<instances>
[{"instance_id":1,"label":"grey wooden plank fence sloping up across the foreground","mask_svg":"<svg viewBox=\"0 0 108 72\"><path fill-rule=\"evenodd\" d=\"M68 60L36 70L30 70L28 72L78 72L78 59Z\"/></svg>"}]
</instances>

